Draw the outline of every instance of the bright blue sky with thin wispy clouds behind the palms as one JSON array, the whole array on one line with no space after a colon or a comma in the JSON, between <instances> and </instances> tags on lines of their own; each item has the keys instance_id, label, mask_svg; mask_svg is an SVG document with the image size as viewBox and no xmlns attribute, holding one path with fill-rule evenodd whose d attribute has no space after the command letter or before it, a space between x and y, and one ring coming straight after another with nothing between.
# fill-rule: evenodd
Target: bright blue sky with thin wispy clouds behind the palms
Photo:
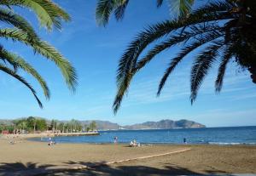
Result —
<instances>
[{"instance_id":1,"label":"bright blue sky with thin wispy clouds behind the palms","mask_svg":"<svg viewBox=\"0 0 256 176\"><path fill-rule=\"evenodd\" d=\"M53 63L34 55L31 48L1 39L0 43L6 48L20 54L38 69L48 81L51 91L51 99L45 100L38 82L20 72L38 90L44 103L41 110L27 88L0 72L1 118L44 116L60 120L108 120L119 124L185 118L208 127L256 125L256 87L247 71L237 69L236 63L230 63L224 88L218 95L214 92L217 69L213 68L203 82L195 104L191 106L189 72L195 54L190 54L173 72L160 97L156 97L160 77L179 46L159 54L137 74L131 82L128 96L114 116L112 103L119 57L143 27L170 18L168 5L156 9L154 0L131 1L124 20L117 23L111 19L109 25L103 28L96 26L96 1L55 2L71 14L72 22L63 24L61 31L48 32L41 28L38 34L73 63L79 75L77 91L72 94L67 89ZM38 28L38 21L31 12L17 10Z\"/></svg>"}]
</instances>

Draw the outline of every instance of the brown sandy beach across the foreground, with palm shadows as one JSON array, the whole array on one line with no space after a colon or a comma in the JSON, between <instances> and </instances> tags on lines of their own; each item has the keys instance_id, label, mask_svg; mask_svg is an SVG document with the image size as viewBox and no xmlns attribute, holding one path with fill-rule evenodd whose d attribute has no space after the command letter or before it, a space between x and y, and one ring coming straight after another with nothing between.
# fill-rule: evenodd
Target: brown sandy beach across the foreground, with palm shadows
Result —
<instances>
[{"instance_id":1,"label":"brown sandy beach across the foreground, with palm shadows","mask_svg":"<svg viewBox=\"0 0 256 176\"><path fill-rule=\"evenodd\" d=\"M16 139L15 145L11 145L8 139L0 139L0 147L0 175L256 173L256 146L144 145L132 148L113 144L49 146L43 142L20 139ZM163 156L157 156L161 154ZM146 158L135 160L145 156ZM147 156L154 157L147 158ZM113 163L127 159L132 160Z\"/></svg>"}]
</instances>

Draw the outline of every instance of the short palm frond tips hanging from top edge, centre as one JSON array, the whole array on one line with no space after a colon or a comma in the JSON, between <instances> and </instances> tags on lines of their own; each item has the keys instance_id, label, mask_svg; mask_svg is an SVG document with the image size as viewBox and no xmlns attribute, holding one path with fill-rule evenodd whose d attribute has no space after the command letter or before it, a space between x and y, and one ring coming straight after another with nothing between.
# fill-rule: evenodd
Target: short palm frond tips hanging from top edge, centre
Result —
<instances>
[{"instance_id":1,"label":"short palm frond tips hanging from top edge, centre","mask_svg":"<svg viewBox=\"0 0 256 176\"><path fill-rule=\"evenodd\" d=\"M164 0L156 0L158 8ZM189 13L194 0L167 0L171 12L179 17ZM107 26L113 13L116 20L122 20L129 0L98 0L96 5L96 21L100 26Z\"/></svg>"}]
</instances>

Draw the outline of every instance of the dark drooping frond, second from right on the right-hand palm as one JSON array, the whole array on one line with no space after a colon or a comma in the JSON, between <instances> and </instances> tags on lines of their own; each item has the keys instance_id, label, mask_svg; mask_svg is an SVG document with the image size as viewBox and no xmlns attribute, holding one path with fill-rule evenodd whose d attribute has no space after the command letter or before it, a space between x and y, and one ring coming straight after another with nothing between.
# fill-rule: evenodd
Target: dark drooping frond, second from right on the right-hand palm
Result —
<instances>
[{"instance_id":1,"label":"dark drooping frond, second from right on the right-hand palm","mask_svg":"<svg viewBox=\"0 0 256 176\"><path fill-rule=\"evenodd\" d=\"M223 45L223 41L214 42L210 44L210 46L205 48L204 51L201 52L201 54L198 55L197 58L195 59L195 62L193 63L191 69L190 78L191 104L193 104L193 102L195 101L197 92L201 87L203 79L207 75L208 70L212 67L213 62L216 60L216 57L218 56L218 49L221 48Z\"/></svg>"}]
</instances>

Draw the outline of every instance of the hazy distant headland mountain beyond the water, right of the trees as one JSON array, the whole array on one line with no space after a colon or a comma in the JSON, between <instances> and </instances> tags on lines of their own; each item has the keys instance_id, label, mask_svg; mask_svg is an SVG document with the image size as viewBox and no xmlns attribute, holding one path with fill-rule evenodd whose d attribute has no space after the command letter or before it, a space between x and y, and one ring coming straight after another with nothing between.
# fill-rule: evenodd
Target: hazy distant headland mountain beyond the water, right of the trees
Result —
<instances>
[{"instance_id":1,"label":"hazy distant headland mountain beyond the water, right of the trees","mask_svg":"<svg viewBox=\"0 0 256 176\"><path fill-rule=\"evenodd\" d=\"M205 125L202 125L198 122L188 121L188 120L179 120L172 121L169 119L161 120L159 122L143 122L134 125L127 125L122 128L125 129L168 129L168 128L205 128Z\"/></svg>"}]
</instances>

